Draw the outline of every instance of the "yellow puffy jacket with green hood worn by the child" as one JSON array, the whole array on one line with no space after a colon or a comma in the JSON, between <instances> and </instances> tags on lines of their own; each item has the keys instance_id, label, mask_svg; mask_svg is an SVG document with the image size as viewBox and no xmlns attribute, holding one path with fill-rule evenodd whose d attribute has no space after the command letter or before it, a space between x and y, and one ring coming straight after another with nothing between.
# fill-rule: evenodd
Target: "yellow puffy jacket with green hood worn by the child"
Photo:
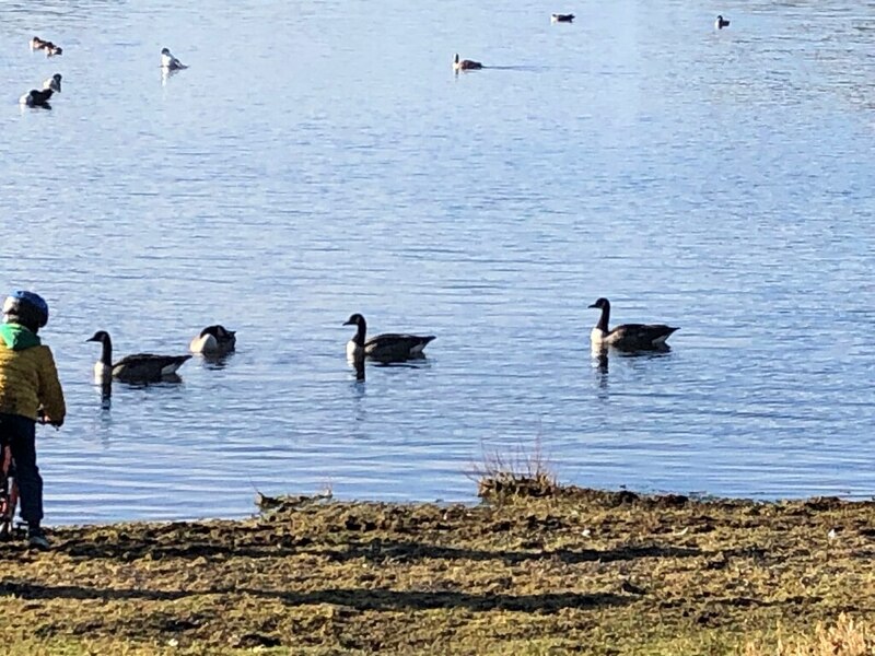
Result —
<instances>
[{"instance_id":1,"label":"yellow puffy jacket with green hood worn by the child","mask_svg":"<svg viewBox=\"0 0 875 656\"><path fill-rule=\"evenodd\" d=\"M51 349L18 324L0 326L0 412L38 419L39 408L52 423L67 413Z\"/></svg>"}]
</instances>

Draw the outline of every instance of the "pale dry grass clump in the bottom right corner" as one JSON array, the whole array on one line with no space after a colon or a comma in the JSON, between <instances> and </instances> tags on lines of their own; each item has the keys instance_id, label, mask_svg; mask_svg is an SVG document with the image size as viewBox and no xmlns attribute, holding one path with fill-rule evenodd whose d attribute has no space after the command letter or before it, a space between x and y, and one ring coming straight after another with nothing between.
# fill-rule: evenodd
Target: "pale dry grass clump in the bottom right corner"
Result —
<instances>
[{"instance_id":1,"label":"pale dry grass clump in the bottom right corner","mask_svg":"<svg viewBox=\"0 0 875 656\"><path fill-rule=\"evenodd\" d=\"M867 656L875 654L875 634L866 624L859 624L841 613L833 625L817 622L814 634L784 637L778 630L772 647L747 643L745 656Z\"/></svg>"}]
</instances>

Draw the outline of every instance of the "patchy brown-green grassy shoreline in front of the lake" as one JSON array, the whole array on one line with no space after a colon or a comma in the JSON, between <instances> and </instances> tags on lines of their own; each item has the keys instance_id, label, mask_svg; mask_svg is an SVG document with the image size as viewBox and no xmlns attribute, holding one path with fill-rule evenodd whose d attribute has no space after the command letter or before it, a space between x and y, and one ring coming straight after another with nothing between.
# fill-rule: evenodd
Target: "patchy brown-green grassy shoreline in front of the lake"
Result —
<instances>
[{"instance_id":1,"label":"patchy brown-green grassy shoreline in front of the lake","mask_svg":"<svg viewBox=\"0 0 875 656\"><path fill-rule=\"evenodd\" d=\"M872 502L528 492L58 528L50 552L0 544L0 636L13 655L819 654L786 649L845 613L875 644Z\"/></svg>"}]
</instances>

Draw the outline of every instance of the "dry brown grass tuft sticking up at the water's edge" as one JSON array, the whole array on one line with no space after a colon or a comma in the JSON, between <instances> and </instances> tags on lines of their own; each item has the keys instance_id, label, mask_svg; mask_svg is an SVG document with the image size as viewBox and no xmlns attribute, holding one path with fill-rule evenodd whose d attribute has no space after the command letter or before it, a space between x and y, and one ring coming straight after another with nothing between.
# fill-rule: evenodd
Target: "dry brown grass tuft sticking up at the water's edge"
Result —
<instances>
[{"instance_id":1,"label":"dry brown grass tuft sticking up at the water's edge","mask_svg":"<svg viewBox=\"0 0 875 656\"><path fill-rule=\"evenodd\" d=\"M472 470L472 478L477 480L477 495L487 501L552 496L560 490L540 441L528 453L522 447L510 456L499 450L485 453L482 465Z\"/></svg>"}]
</instances>

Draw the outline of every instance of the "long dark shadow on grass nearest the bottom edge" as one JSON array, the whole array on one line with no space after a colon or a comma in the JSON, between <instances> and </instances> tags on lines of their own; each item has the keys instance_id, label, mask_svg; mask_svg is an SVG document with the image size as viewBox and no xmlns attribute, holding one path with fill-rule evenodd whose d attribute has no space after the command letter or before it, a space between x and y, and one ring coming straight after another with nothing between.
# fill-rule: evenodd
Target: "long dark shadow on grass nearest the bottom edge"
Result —
<instances>
[{"instance_id":1,"label":"long dark shadow on grass nearest the bottom edge","mask_svg":"<svg viewBox=\"0 0 875 656\"><path fill-rule=\"evenodd\" d=\"M506 595L474 594L458 591L421 591L330 588L308 593L262 590L255 588L209 588L198 591L150 590L150 589L109 589L77 585L42 585L33 583L0 584L0 596L15 596L21 599L98 599L113 600L148 600L175 601L186 597L205 595L246 595L264 599L277 599L288 606L308 606L332 604L357 610L434 610L467 608L472 611L521 610L527 612L556 612L563 608L600 608L622 606L634 600L634 597L595 593L549 593L542 595Z\"/></svg>"}]
</instances>

